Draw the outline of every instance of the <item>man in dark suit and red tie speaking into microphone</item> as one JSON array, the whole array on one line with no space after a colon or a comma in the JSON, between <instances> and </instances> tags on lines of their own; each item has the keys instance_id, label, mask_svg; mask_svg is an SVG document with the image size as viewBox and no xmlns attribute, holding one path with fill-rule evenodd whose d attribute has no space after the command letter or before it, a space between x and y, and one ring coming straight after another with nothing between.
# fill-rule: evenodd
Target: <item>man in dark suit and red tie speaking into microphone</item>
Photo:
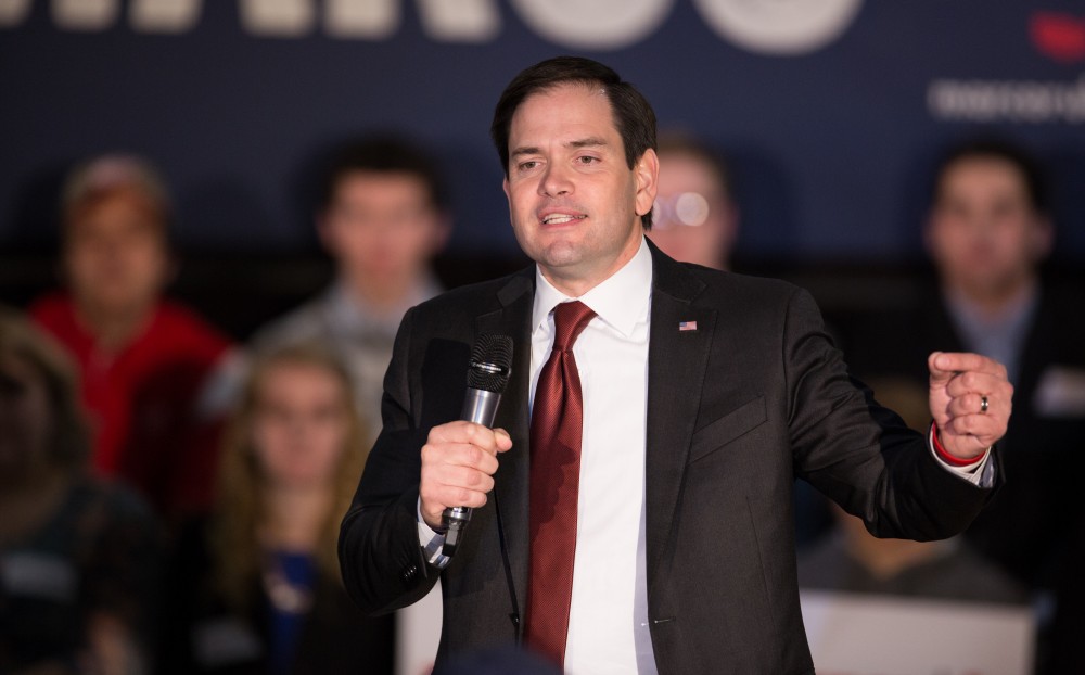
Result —
<instances>
[{"instance_id":1,"label":"man in dark suit and red tie speaking into microphone","mask_svg":"<svg viewBox=\"0 0 1085 675\"><path fill-rule=\"evenodd\" d=\"M660 253L643 237L654 114L602 64L527 68L492 132L513 229L536 265L405 317L384 429L343 522L347 588L392 611L439 570L438 661L523 639L573 673L813 672L794 477L882 536L960 531L998 481L990 448L1010 411L1005 369L931 355L924 438L848 379L805 292ZM587 322L566 340L570 306ZM493 431L449 422L483 333L515 344ZM552 407L549 393L535 396L548 358L566 359L576 385L563 391L583 411L582 431L558 440L537 429ZM577 469L544 474L551 453ZM569 482L571 590L565 573L540 573ZM442 513L455 506L476 510L448 563Z\"/></svg>"}]
</instances>

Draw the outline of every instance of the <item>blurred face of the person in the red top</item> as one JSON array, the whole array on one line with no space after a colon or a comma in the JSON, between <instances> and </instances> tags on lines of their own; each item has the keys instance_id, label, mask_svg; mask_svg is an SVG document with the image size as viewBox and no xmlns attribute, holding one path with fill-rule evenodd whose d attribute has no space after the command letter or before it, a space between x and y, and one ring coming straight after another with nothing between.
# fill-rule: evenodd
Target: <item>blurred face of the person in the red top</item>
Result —
<instances>
[{"instance_id":1,"label":"blurred face of the person in the red top","mask_svg":"<svg viewBox=\"0 0 1085 675\"><path fill-rule=\"evenodd\" d=\"M95 315L154 305L169 273L166 225L135 190L112 190L68 215L64 267L76 303Z\"/></svg>"}]
</instances>

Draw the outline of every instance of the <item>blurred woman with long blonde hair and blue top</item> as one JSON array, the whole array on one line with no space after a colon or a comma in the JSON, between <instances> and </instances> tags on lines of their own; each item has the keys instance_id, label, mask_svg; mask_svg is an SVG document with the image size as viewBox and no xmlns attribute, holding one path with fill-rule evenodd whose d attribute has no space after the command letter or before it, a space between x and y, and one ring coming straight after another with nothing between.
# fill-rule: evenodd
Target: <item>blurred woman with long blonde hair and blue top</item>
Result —
<instances>
[{"instance_id":1,"label":"blurred woman with long blonde hair and blue top","mask_svg":"<svg viewBox=\"0 0 1085 675\"><path fill-rule=\"evenodd\" d=\"M218 507L178 547L163 672L392 672L392 619L354 607L336 558L365 437L329 349L257 357L225 434Z\"/></svg>"}]
</instances>

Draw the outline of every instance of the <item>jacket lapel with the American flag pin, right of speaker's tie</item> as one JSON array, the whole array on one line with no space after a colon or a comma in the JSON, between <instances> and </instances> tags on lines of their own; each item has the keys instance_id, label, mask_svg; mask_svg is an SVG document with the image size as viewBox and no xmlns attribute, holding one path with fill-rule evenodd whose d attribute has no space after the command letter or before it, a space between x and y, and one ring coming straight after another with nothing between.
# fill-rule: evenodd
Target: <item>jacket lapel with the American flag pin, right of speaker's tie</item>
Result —
<instances>
[{"instance_id":1,"label":"jacket lapel with the American flag pin, right of speaker's tie","mask_svg":"<svg viewBox=\"0 0 1085 675\"><path fill-rule=\"evenodd\" d=\"M716 324L714 308L692 302L704 283L651 247L644 481L649 596L673 530Z\"/></svg>"}]
</instances>

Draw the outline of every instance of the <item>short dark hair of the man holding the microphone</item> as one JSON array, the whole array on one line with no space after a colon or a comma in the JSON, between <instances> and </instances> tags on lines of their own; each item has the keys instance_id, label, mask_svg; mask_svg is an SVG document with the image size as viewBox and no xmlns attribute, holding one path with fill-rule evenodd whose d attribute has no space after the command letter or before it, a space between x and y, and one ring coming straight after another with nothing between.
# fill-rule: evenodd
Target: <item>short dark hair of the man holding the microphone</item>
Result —
<instances>
[{"instance_id":1,"label":"short dark hair of the man holding the microphone","mask_svg":"<svg viewBox=\"0 0 1085 675\"><path fill-rule=\"evenodd\" d=\"M630 169L651 148L655 149L655 112L636 87L623 81L610 67L579 56L557 56L537 63L516 75L501 92L494 109L489 133L497 154L509 176L509 130L516 109L528 97L566 84L599 86L610 102L614 126L622 137L625 161ZM652 213L640 217L644 229L652 227Z\"/></svg>"}]
</instances>

